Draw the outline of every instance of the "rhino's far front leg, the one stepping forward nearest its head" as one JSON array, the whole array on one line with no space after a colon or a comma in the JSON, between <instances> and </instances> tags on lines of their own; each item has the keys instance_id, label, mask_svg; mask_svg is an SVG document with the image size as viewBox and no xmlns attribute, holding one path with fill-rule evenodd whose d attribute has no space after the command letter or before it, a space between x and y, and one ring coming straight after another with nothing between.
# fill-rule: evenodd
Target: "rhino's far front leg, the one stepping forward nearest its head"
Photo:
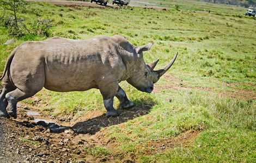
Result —
<instances>
[{"instance_id":1,"label":"rhino's far front leg, the one stepping forward nearest its head","mask_svg":"<svg viewBox=\"0 0 256 163\"><path fill-rule=\"evenodd\" d=\"M127 98L125 91L120 86L118 86L118 91L115 93L115 97L120 101L120 108L130 108L133 106L133 103Z\"/></svg>"}]
</instances>

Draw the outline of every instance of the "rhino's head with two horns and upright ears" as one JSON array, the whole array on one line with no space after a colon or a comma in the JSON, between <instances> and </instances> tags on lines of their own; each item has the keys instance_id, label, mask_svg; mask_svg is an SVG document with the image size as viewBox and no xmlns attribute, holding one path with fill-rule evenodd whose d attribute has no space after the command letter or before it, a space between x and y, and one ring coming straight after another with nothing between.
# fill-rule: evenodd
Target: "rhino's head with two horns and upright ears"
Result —
<instances>
[{"instance_id":1,"label":"rhino's head with two horns and upright ears","mask_svg":"<svg viewBox=\"0 0 256 163\"><path fill-rule=\"evenodd\" d=\"M178 55L177 52L172 61L170 61L165 67L161 68L160 70L154 70L159 59L146 65L142 53L143 51L148 51L152 45L153 43L148 43L147 45L140 47L134 46L134 50L138 58L135 65L133 65L131 68L132 72L130 78L127 79L127 82L136 87L137 90L148 93L153 91L154 83L156 83L160 77L169 70Z\"/></svg>"}]
</instances>

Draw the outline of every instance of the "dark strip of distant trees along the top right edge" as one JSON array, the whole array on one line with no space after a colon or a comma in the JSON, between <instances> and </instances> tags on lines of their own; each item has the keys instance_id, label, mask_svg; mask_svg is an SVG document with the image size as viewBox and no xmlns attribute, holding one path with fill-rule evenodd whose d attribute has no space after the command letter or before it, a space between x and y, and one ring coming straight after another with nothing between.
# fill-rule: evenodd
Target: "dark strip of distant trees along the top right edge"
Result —
<instances>
[{"instance_id":1,"label":"dark strip of distant trees along the top right edge","mask_svg":"<svg viewBox=\"0 0 256 163\"><path fill-rule=\"evenodd\" d=\"M241 7L256 7L256 0L201 0L205 2L239 5Z\"/></svg>"}]
</instances>

